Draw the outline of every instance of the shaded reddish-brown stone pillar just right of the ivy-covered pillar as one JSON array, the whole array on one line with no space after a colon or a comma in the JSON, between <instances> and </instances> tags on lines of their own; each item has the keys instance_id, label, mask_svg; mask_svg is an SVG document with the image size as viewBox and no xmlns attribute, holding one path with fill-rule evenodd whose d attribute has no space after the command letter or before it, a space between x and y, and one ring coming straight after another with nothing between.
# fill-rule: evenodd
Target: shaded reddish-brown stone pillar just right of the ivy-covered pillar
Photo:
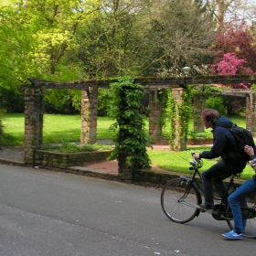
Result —
<instances>
[{"instance_id":1,"label":"shaded reddish-brown stone pillar just right of the ivy-covered pillar","mask_svg":"<svg viewBox=\"0 0 256 256\"><path fill-rule=\"evenodd\" d=\"M155 143L162 139L162 107L163 102L159 100L159 91L149 91L149 136L155 138Z\"/></svg>"}]
</instances>

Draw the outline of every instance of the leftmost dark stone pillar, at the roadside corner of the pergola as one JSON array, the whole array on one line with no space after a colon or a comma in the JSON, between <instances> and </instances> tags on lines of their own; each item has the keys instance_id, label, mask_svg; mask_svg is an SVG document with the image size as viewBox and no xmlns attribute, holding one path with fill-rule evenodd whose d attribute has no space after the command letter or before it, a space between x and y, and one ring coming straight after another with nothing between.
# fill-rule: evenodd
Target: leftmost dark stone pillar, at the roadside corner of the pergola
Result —
<instances>
[{"instance_id":1,"label":"leftmost dark stone pillar, at the roadside corner of the pergola","mask_svg":"<svg viewBox=\"0 0 256 256\"><path fill-rule=\"evenodd\" d=\"M25 90L25 139L24 162L34 165L35 150L43 142L43 90L29 88Z\"/></svg>"}]
</instances>

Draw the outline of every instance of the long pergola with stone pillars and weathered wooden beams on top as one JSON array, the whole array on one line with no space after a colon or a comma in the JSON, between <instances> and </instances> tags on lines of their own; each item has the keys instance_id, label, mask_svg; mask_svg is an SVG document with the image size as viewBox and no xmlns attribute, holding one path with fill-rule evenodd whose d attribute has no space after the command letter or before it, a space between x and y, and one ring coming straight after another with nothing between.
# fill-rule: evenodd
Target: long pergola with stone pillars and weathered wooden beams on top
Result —
<instances>
[{"instance_id":1,"label":"long pergola with stone pillars and weathered wooden beams on top","mask_svg":"<svg viewBox=\"0 0 256 256\"><path fill-rule=\"evenodd\" d=\"M43 95L46 89L73 89L82 92L81 114L81 143L96 142L98 88L109 88L109 84L117 80L85 80L69 82L53 82L50 80L28 79L31 84L22 85L25 90L25 149L24 161L26 165L33 165L35 150L42 145L43 133ZM256 82L255 75L235 76L189 76L184 78L144 78L135 79L135 83L144 86L150 95L150 123L149 133L155 135L156 140L162 136L159 116L161 116L161 102L154 101L158 91L172 88L173 91L186 89L187 84L230 84L240 82ZM248 106L254 111L254 93L249 93L251 99ZM176 101L180 100L180 93ZM247 96L246 96L247 97ZM158 123L158 124L157 124ZM251 125L254 131L254 112L251 112Z\"/></svg>"}]
</instances>

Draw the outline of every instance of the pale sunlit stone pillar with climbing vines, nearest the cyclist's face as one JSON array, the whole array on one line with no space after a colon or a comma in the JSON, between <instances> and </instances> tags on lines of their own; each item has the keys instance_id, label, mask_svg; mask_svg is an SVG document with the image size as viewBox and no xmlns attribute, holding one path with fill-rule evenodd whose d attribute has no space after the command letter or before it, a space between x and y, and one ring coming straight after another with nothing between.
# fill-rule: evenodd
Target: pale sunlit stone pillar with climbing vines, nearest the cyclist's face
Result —
<instances>
[{"instance_id":1,"label":"pale sunlit stone pillar with climbing vines, nearest the cyclist's face","mask_svg":"<svg viewBox=\"0 0 256 256\"><path fill-rule=\"evenodd\" d=\"M182 95L183 91L185 91L185 89L183 89L183 88L175 88L172 90L173 97L176 100L177 104L181 104L181 102L182 102L181 95ZM176 113L178 113L177 108L176 108ZM187 149L187 138L181 137L180 127L182 127L181 120L179 120L178 117L176 117L176 120L175 120L175 133L176 133L175 134L175 146L173 148L171 148L172 150L175 150L175 151L182 151L182 150Z\"/></svg>"}]
</instances>

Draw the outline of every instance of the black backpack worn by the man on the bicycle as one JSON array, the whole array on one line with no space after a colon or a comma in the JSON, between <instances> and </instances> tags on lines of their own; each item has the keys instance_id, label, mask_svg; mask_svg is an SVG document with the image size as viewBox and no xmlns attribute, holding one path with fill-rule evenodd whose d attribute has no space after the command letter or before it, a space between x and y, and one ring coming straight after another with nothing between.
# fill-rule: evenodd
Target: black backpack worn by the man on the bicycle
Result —
<instances>
[{"instance_id":1,"label":"black backpack worn by the man on the bicycle","mask_svg":"<svg viewBox=\"0 0 256 256\"><path fill-rule=\"evenodd\" d=\"M233 124L230 128L228 128L228 130L235 137L235 140L238 144L240 155L242 155L246 161L250 161L250 156L244 152L244 146L248 144L251 145L253 149L255 149L255 144L251 132L248 131L247 129L238 126L237 124Z\"/></svg>"}]
</instances>

